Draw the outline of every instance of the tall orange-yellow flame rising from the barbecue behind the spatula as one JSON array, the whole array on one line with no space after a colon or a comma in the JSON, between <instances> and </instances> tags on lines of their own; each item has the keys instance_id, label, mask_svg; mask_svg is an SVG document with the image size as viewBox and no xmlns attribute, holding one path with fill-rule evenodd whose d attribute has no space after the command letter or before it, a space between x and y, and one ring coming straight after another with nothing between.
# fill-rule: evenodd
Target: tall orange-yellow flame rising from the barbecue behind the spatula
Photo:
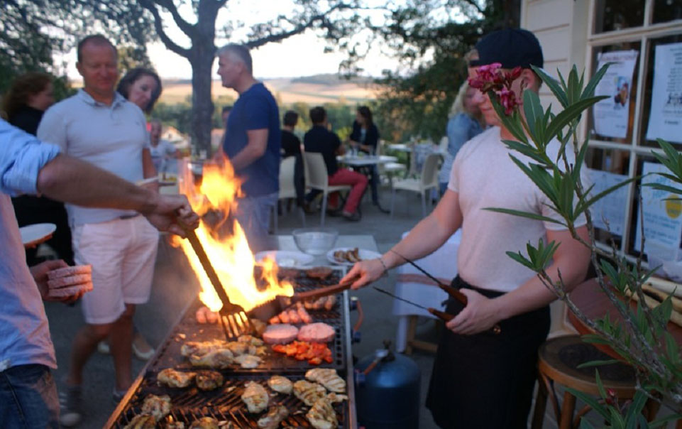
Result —
<instances>
[{"instance_id":1,"label":"tall orange-yellow flame rising from the barbecue behind the spatula","mask_svg":"<svg viewBox=\"0 0 682 429\"><path fill-rule=\"evenodd\" d=\"M202 217L197 238L204 247L230 302L244 310L275 298L292 296L294 288L288 281L277 281L278 267L272 259L258 264L258 278L254 276L255 259L248 247L246 235L239 222L229 213L236 209L236 198L241 195L241 180L236 178L231 163L205 163L203 178L197 185L187 162L181 163L182 177L178 180L180 192L187 195L192 209ZM225 233L228 231L228 233ZM222 232L222 233L221 233ZM180 246L192 270L201 283L199 298L211 311L222 308L218 294L188 240L174 237L173 244Z\"/></svg>"}]
</instances>

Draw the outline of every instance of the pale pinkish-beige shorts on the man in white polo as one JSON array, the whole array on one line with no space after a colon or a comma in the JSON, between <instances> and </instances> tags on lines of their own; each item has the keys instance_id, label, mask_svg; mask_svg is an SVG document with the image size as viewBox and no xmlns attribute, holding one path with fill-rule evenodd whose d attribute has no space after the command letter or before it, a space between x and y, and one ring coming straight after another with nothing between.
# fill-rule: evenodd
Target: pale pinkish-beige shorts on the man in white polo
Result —
<instances>
[{"instance_id":1,"label":"pale pinkish-beige shorts on the man in white polo","mask_svg":"<svg viewBox=\"0 0 682 429\"><path fill-rule=\"evenodd\" d=\"M86 322L115 322L126 304L149 300L159 233L145 217L77 225L72 236L76 264L92 265L93 290L82 298Z\"/></svg>"}]
</instances>

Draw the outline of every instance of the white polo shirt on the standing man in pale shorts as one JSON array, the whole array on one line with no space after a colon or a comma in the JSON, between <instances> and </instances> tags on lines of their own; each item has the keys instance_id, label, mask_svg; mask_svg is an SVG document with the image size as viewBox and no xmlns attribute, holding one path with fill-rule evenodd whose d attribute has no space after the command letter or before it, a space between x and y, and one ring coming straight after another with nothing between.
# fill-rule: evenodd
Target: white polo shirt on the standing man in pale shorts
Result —
<instances>
[{"instance_id":1,"label":"white polo shirt on the standing man in pale shorts","mask_svg":"<svg viewBox=\"0 0 682 429\"><path fill-rule=\"evenodd\" d=\"M135 183L144 178L142 150L148 146L142 110L115 92L114 102L95 101L83 89L53 105L38 126L38 139L55 143L75 158ZM66 205L71 226L134 215L130 210Z\"/></svg>"}]
</instances>

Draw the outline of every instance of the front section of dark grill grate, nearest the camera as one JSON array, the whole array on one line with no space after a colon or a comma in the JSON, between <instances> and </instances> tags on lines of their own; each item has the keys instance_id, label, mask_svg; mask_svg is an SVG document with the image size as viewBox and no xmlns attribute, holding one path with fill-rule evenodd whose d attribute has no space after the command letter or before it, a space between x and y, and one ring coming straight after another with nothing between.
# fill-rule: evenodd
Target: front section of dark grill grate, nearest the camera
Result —
<instances>
[{"instance_id":1,"label":"front section of dark grill grate, nearest the camera","mask_svg":"<svg viewBox=\"0 0 682 429\"><path fill-rule=\"evenodd\" d=\"M303 376L288 376L292 381L303 379ZM246 410L246 405L241 400L244 392L244 384L247 381L256 381L265 387L270 394L270 405L282 404L290 410L289 416L280 423L282 427L311 428L312 426L305 417L309 407L299 401L293 395L274 393L268 388L268 376L265 375L241 375L232 376L221 389L215 391L201 391L194 388L170 389L156 386L150 379L143 381L136 394L131 398L126 408L121 412L114 428L124 428L139 413L142 403L148 394L168 395L172 403L170 416L166 416L165 422L181 421L185 427L198 418L209 416L219 421L231 421L237 428L256 428L256 422L263 413L251 414ZM339 428L346 428L348 422L348 406L346 403L334 404L336 418L339 419ZM163 427L163 421L161 422Z\"/></svg>"}]
</instances>

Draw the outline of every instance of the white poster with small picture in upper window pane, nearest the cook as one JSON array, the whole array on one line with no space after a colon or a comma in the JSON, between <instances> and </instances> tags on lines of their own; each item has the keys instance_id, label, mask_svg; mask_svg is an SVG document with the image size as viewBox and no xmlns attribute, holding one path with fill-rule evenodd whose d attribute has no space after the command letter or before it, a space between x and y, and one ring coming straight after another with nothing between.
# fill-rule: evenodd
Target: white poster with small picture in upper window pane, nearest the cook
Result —
<instances>
[{"instance_id":1,"label":"white poster with small picture in upper window pane, nearest the cook","mask_svg":"<svg viewBox=\"0 0 682 429\"><path fill-rule=\"evenodd\" d=\"M595 95L606 95L594 105L595 131L600 136L625 139L630 112L632 74L637 64L637 50L600 53L597 70L612 63L595 88Z\"/></svg>"}]
</instances>

